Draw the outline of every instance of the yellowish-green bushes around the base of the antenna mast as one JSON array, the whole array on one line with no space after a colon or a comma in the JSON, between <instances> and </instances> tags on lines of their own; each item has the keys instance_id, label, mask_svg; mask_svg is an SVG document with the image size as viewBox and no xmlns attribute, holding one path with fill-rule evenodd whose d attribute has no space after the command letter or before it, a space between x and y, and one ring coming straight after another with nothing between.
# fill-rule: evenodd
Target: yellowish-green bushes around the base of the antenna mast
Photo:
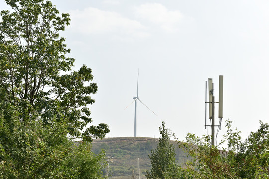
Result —
<instances>
[{"instance_id":1,"label":"yellowish-green bushes around the base of the antenna mast","mask_svg":"<svg viewBox=\"0 0 269 179\"><path fill-rule=\"evenodd\" d=\"M189 178L200 179L267 179L269 178L269 125L260 122L257 132L242 141L234 132L231 121L226 121L227 134L222 143L228 148L211 146L211 138L188 134L179 146L192 157L182 169ZM185 177L186 177L185 176Z\"/></svg>"}]
</instances>

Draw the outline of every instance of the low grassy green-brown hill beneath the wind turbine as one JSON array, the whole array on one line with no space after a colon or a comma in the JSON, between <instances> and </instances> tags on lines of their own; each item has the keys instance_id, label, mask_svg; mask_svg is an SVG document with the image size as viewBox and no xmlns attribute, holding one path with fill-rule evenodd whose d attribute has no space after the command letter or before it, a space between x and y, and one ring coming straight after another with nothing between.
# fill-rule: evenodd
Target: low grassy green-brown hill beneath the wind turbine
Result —
<instances>
[{"instance_id":1,"label":"low grassy green-brown hill beneath the wind turbine","mask_svg":"<svg viewBox=\"0 0 269 179\"><path fill-rule=\"evenodd\" d=\"M111 179L131 179L132 170L134 174L138 174L137 158L140 159L140 179L144 179L146 171L151 168L148 155L157 147L158 142L159 139L146 137L104 138L93 140L92 150L99 153L104 149L107 157L111 158L109 162ZM186 154L178 148L175 141L171 143L175 145L177 162L183 163L187 159Z\"/></svg>"}]
</instances>

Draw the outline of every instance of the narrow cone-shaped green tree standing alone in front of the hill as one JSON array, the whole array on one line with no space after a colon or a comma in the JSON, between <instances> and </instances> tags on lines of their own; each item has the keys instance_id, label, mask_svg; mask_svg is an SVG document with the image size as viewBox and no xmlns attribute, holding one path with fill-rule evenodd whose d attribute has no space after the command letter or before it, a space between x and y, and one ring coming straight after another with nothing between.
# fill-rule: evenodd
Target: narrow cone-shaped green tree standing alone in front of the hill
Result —
<instances>
[{"instance_id":1,"label":"narrow cone-shaped green tree standing alone in front of the hill","mask_svg":"<svg viewBox=\"0 0 269 179\"><path fill-rule=\"evenodd\" d=\"M175 148L170 143L170 137L173 135L169 129L159 127L161 137L158 146L151 151L149 158L151 160L151 171L147 171L148 179L180 179L180 166L176 162ZM183 178L182 178L183 179Z\"/></svg>"}]
</instances>

